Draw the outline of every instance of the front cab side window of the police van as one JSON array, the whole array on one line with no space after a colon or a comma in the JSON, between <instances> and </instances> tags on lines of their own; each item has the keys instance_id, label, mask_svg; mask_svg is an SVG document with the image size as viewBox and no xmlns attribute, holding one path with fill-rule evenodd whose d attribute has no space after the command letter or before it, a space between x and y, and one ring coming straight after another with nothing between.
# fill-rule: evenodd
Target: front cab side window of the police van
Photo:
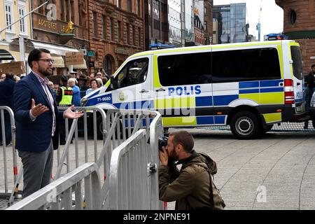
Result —
<instances>
[{"instance_id":1,"label":"front cab side window of the police van","mask_svg":"<svg viewBox=\"0 0 315 224\"><path fill-rule=\"evenodd\" d=\"M148 58L136 59L128 62L118 75L118 89L130 85L144 83L148 74Z\"/></svg>"}]
</instances>

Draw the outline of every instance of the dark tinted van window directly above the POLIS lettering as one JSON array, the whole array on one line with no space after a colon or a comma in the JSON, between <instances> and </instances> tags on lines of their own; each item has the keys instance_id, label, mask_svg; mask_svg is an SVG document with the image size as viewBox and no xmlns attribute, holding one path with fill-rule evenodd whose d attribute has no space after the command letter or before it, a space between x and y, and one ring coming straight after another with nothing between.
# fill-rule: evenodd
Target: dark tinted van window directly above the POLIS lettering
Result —
<instances>
[{"instance_id":1,"label":"dark tinted van window directly above the POLIS lettering","mask_svg":"<svg viewBox=\"0 0 315 224\"><path fill-rule=\"evenodd\" d=\"M211 83L210 67L210 52L158 57L160 83L163 86Z\"/></svg>"}]
</instances>

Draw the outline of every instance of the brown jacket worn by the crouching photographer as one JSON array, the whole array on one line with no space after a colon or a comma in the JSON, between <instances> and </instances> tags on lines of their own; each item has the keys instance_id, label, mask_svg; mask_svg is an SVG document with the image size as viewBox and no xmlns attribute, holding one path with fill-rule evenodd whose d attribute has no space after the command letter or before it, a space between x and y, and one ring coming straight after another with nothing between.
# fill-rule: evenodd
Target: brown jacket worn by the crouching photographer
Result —
<instances>
[{"instance_id":1,"label":"brown jacket worn by the crouching photographer","mask_svg":"<svg viewBox=\"0 0 315 224\"><path fill-rule=\"evenodd\" d=\"M160 200L176 201L176 210L211 207L209 173L203 167L196 165L200 162L202 157L194 152L183 162L181 172L175 165L160 165Z\"/></svg>"}]
</instances>

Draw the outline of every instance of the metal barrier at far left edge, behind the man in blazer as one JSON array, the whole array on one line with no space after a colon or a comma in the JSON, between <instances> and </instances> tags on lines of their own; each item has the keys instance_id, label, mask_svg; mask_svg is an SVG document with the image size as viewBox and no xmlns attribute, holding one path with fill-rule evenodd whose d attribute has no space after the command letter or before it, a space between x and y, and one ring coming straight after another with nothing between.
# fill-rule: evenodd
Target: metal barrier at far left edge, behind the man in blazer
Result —
<instances>
[{"instance_id":1,"label":"metal barrier at far left edge, behind the man in blazer","mask_svg":"<svg viewBox=\"0 0 315 224\"><path fill-rule=\"evenodd\" d=\"M6 120L5 120L6 118ZM9 120L8 120L9 119ZM0 176L1 179L3 178L3 182L0 181L0 208L3 207L4 201L8 200L8 198L11 195L18 196L18 191L13 187L13 184L18 180L18 162L17 162L17 153L15 151L15 120L14 120L14 113L12 109L10 109L8 106L0 106L0 120L1 120L1 143L2 146L0 147L3 160L0 161ZM9 121L10 130L6 129L6 122ZM11 136L11 145L6 146L7 144L10 144L9 142L6 142L6 132L10 132ZM8 149L12 149L12 158L8 158ZM12 173L8 171L8 162L13 160L13 169ZM11 168L11 167L9 167ZM10 174L13 174L13 181L12 185L10 185ZM4 187L4 190L3 190ZM13 190L12 190L13 189ZM3 201L3 202L1 202Z\"/></svg>"}]
</instances>

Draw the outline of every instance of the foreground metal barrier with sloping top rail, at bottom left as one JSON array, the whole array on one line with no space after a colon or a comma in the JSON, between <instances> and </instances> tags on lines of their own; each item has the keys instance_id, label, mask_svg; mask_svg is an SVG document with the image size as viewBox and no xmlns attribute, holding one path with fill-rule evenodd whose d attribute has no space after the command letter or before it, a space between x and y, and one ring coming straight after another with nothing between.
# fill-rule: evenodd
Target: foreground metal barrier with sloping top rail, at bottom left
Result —
<instances>
[{"instance_id":1,"label":"foreground metal barrier with sloping top rail, at bottom left","mask_svg":"<svg viewBox=\"0 0 315 224\"><path fill-rule=\"evenodd\" d=\"M7 210L99 210L100 186L99 168L95 163L85 163Z\"/></svg>"}]
</instances>

